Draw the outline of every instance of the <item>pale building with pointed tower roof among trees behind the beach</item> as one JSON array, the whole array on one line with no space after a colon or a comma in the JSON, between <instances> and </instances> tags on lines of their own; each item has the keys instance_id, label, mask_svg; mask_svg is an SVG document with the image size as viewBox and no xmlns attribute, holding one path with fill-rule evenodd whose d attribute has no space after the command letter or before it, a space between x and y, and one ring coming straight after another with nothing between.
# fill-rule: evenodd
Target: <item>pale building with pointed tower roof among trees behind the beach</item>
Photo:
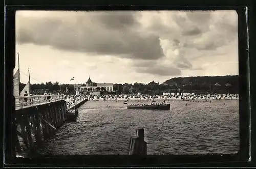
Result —
<instances>
[{"instance_id":1,"label":"pale building with pointed tower roof among trees behind the beach","mask_svg":"<svg viewBox=\"0 0 256 169\"><path fill-rule=\"evenodd\" d=\"M97 89L101 90L102 87L108 92L113 92L114 91L114 84L113 83L95 83L91 80L90 77L86 82L86 86L85 87L80 87L80 90L81 91L86 91L90 88L92 88L92 90L97 90Z\"/></svg>"}]
</instances>

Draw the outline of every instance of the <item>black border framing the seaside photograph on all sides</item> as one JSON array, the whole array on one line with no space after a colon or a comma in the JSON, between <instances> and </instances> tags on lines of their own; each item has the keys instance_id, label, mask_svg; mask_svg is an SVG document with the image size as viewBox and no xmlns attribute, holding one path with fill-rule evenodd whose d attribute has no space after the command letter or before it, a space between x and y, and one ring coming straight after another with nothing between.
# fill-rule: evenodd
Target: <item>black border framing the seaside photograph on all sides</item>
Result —
<instances>
[{"instance_id":1,"label":"black border framing the seaside photograph on all sides","mask_svg":"<svg viewBox=\"0 0 256 169\"><path fill-rule=\"evenodd\" d=\"M131 5L79 5L74 6L50 4L47 1L41 2L36 6L27 2L8 2L5 7L5 55L4 55L4 163L6 166L242 166L251 165L250 159L255 154L253 151L255 136L253 131L253 123L251 118L254 117L252 112L252 84L255 81L251 79L253 76L252 68L253 62L251 52L255 49L249 50L249 40L252 43L255 41L249 38L250 30L255 29L253 23L248 21L248 13L250 8L239 5L232 5L232 7L219 6L212 4L211 7L187 7L180 2L179 4L165 5L150 5L142 4ZM173 6L176 5L176 6ZM179 6L177 6L179 5ZM231 6L231 4L229 5ZM238 13L239 25L239 123L240 123L240 150L237 154L211 154L211 155L147 155L147 156L36 156L35 158L16 157L15 147L13 143L15 139L13 132L15 128L15 107L14 97L12 96L12 76L15 67L15 11L17 10L72 10L72 11L90 11L90 10L236 10ZM254 32L254 31L253 31ZM252 34L253 35L253 34ZM253 43L255 44L255 43ZM250 54L249 54L250 53ZM255 52L254 52L255 53ZM255 59L254 59L255 60ZM255 72L254 72L255 74ZM255 99L255 98L254 98ZM255 101L255 100L254 100ZM253 112L253 114L255 114ZM255 126L255 125L254 125ZM14 150L14 151L13 151Z\"/></svg>"}]
</instances>

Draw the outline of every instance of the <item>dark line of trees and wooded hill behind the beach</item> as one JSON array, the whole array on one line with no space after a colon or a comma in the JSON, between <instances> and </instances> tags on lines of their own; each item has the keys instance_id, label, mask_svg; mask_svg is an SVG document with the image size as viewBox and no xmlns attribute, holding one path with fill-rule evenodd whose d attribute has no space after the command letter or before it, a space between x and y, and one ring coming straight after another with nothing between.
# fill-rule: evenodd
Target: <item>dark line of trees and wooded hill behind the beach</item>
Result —
<instances>
[{"instance_id":1,"label":"dark line of trees and wooded hill behind the beach","mask_svg":"<svg viewBox=\"0 0 256 169\"><path fill-rule=\"evenodd\" d=\"M20 91L26 84L20 83ZM86 84L80 84L86 86ZM217 94L238 94L239 93L239 76L198 76L198 77L176 77L168 79L163 83L152 81L148 84L135 82L132 83L116 83L113 86L114 92L110 94L162 94L173 92L185 92L185 93L217 93ZM68 89L68 92L66 91ZM87 91L93 89L88 87ZM109 92L104 88L96 88L101 91L102 94ZM32 94L44 94L45 91L49 91L52 94L65 93L74 94L75 87L71 84L59 84L59 82L46 82L31 84L30 91Z\"/></svg>"}]
</instances>

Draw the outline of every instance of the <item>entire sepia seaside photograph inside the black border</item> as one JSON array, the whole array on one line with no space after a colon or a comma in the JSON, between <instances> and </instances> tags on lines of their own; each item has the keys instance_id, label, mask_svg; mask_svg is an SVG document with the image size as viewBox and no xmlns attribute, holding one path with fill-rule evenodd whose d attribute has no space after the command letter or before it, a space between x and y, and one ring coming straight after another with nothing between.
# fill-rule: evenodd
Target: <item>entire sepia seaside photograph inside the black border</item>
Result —
<instances>
[{"instance_id":1,"label":"entire sepia seaside photograph inside the black border","mask_svg":"<svg viewBox=\"0 0 256 169\"><path fill-rule=\"evenodd\" d=\"M16 11L18 157L239 151L238 14Z\"/></svg>"}]
</instances>

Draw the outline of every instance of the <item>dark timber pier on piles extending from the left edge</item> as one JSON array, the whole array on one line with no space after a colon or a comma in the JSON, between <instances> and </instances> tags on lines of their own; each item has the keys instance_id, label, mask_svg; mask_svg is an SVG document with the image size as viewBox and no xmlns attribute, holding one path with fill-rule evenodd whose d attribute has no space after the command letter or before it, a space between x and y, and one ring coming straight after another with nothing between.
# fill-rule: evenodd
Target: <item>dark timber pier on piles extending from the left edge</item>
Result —
<instances>
[{"instance_id":1,"label":"dark timber pier on piles extending from the left edge","mask_svg":"<svg viewBox=\"0 0 256 169\"><path fill-rule=\"evenodd\" d=\"M21 102L24 104L24 98L17 97L16 99L22 100ZM12 153L20 154L24 151L33 151L42 146L68 120L70 112L74 111L76 120L78 107L87 100L87 98L82 98L72 107L67 106L64 97L47 102L40 101L40 104L27 102L27 105L21 105L18 108L16 104L12 118Z\"/></svg>"}]
</instances>

